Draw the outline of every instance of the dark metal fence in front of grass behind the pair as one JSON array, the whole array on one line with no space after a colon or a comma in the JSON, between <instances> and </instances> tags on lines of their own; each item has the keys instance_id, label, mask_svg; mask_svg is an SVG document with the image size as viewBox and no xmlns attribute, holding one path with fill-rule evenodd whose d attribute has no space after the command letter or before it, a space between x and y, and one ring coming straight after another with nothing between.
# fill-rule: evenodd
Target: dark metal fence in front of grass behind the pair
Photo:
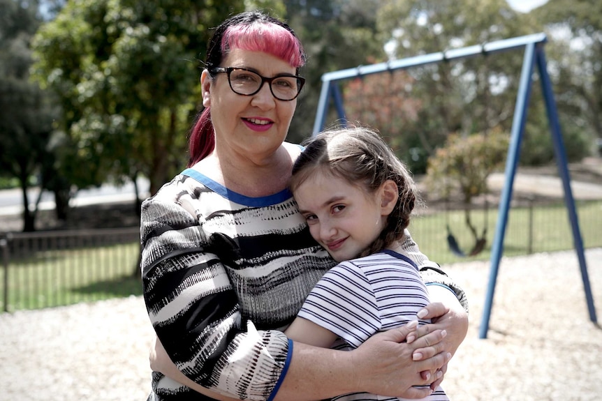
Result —
<instances>
[{"instance_id":1,"label":"dark metal fence in front of grass behind the pair","mask_svg":"<svg viewBox=\"0 0 602 401\"><path fill-rule=\"evenodd\" d=\"M602 201L577 202L585 248L602 247ZM470 259L489 259L497 220L496 206L488 213L471 211L488 243ZM471 234L464 211L439 211L414 218L410 231L430 259L448 264L466 261L450 252L446 225L453 227L462 248L470 249ZM525 204L510 213L504 255L526 255L573 248L566 207ZM140 229L90 229L0 234L0 311L47 308L82 301L142 294L138 258Z\"/></svg>"}]
</instances>

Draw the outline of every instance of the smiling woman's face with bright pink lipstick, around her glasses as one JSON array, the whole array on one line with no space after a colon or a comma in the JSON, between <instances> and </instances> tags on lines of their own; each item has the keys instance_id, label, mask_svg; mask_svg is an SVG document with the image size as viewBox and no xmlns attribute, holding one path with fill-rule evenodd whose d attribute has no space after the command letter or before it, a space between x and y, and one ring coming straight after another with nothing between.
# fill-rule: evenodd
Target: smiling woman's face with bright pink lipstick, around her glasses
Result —
<instances>
[{"instance_id":1,"label":"smiling woman's face with bright pink lipstick, around her glasses","mask_svg":"<svg viewBox=\"0 0 602 401\"><path fill-rule=\"evenodd\" d=\"M295 68L271 54L233 49L221 67L247 68L263 77L295 74ZM297 100L274 98L265 82L258 93L242 96L228 84L228 74L218 73L211 80L207 70L201 75L203 105L211 107L215 146L229 156L259 159L272 156L284 142Z\"/></svg>"}]
</instances>

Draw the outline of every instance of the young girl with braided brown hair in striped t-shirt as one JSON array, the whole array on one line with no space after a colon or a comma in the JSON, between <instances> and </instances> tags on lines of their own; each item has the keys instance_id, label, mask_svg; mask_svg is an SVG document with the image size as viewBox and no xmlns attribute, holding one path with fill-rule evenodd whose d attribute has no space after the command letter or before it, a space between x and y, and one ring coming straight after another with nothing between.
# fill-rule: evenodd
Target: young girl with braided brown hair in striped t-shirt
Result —
<instances>
[{"instance_id":1,"label":"young girl with braided brown hair in striped t-shirt","mask_svg":"<svg viewBox=\"0 0 602 401\"><path fill-rule=\"evenodd\" d=\"M339 263L311 290L285 331L292 340L349 349L403 326L429 303L402 240L418 202L408 170L368 128L330 130L305 143L290 187L311 236ZM420 321L420 324L430 321ZM368 393L334 400L398 400ZM437 387L425 400L448 400Z\"/></svg>"}]
</instances>

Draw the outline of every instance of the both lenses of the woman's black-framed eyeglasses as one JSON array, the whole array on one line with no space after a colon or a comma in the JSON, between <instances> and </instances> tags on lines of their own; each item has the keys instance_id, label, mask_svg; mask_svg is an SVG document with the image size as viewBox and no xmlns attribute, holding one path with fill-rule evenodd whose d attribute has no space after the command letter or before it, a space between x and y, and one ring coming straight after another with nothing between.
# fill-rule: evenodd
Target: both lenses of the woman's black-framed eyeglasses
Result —
<instances>
[{"instance_id":1,"label":"both lenses of the woman's black-framed eyeglasses","mask_svg":"<svg viewBox=\"0 0 602 401\"><path fill-rule=\"evenodd\" d=\"M230 71L230 87L240 95L252 95L259 91L263 79L260 75L242 69ZM274 77L268 81L272 94L280 100L293 100L299 93L300 83L296 77Z\"/></svg>"}]
</instances>

